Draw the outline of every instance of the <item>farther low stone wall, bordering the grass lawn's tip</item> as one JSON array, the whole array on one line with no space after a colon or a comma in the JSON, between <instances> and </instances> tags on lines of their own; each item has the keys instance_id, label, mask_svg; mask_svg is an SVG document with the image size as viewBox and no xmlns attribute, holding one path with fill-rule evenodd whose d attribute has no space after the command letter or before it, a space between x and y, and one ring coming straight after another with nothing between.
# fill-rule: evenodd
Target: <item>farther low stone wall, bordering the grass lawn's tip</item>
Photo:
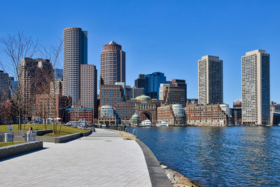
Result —
<instances>
[{"instance_id":1,"label":"farther low stone wall, bordering the grass lawn's tip","mask_svg":"<svg viewBox=\"0 0 280 187\"><path fill-rule=\"evenodd\" d=\"M87 132L77 132L74 134L67 134L61 137L40 137L36 136L36 141L45 141L45 142L54 142L54 143L63 143L66 141L70 141L72 139L77 139L79 137L87 137L92 133L92 130L88 130Z\"/></svg>"}]
</instances>

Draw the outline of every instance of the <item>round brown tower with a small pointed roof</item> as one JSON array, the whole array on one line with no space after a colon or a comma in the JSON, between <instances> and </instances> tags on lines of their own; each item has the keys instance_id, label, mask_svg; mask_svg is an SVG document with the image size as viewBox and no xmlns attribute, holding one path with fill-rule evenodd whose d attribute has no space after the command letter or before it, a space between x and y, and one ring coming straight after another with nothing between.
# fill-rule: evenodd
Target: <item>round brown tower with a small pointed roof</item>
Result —
<instances>
[{"instance_id":1,"label":"round brown tower with a small pointed roof","mask_svg":"<svg viewBox=\"0 0 280 187\"><path fill-rule=\"evenodd\" d=\"M125 83L125 51L118 43L111 41L101 52L100 84Z\"/></svg>"}]
</instances>

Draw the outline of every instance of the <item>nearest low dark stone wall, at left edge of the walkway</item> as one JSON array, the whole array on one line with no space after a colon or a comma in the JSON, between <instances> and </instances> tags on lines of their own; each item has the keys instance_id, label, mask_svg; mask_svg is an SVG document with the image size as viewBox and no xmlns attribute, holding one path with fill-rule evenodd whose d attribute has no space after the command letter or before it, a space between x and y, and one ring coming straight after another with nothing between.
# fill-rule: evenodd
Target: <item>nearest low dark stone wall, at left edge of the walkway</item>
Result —
<instances>
[{"instance_id":1,"label":"nearest low dark stone wall, at left edge of the walkway","mask_svg":"<svg viewBox=\"0 0 280 187\"><path fill-rule=\"evenodd\" d=\"M0 147L0 159L18 155L21 153L26 153L29 151L34 151L38 148L43 148L43 141L30 141L23 144Z\"/></svg>"}]
</instances>

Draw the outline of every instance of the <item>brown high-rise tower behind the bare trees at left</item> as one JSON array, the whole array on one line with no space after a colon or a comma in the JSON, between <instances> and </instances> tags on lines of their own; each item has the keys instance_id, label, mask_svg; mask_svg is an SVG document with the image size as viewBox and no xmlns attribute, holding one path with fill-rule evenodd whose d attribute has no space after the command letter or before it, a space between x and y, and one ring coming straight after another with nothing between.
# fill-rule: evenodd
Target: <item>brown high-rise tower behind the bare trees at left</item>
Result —
<instances>
[{"instance_id":1,"label":"brown high-rise tower behind the bare trees at left","mask_svg":"<svg viewBox=\"0 0 280 187\"><path fill-rule=\"evenodd\" d=\"M36 117L36 95L50 92L50 85L48 85L48 80L45 76L52 74L52 71L50 60L27 57L21 60L19 67L19 89L22 95L25 117Z\"/></svg>"}]
</instances>

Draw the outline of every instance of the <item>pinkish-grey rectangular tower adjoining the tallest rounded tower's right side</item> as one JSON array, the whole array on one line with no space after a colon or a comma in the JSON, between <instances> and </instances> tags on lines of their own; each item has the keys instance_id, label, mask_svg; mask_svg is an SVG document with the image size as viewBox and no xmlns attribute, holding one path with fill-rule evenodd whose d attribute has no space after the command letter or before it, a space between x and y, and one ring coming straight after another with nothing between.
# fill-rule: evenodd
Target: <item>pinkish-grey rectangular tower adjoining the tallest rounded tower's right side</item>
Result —
<instances>
[{"instance_id":1,"label":"pinkish-grey rectangular tower adjoining the tallest rounded tower's right side","mask_svg":"<svg viewBox=\"0 0 280 187\"><path fill-rule=\"evenodd\" d=\"M91 108L97 118L97 69L93 64L80 65L80 106Z\"/></svg>"}]
</instances>

